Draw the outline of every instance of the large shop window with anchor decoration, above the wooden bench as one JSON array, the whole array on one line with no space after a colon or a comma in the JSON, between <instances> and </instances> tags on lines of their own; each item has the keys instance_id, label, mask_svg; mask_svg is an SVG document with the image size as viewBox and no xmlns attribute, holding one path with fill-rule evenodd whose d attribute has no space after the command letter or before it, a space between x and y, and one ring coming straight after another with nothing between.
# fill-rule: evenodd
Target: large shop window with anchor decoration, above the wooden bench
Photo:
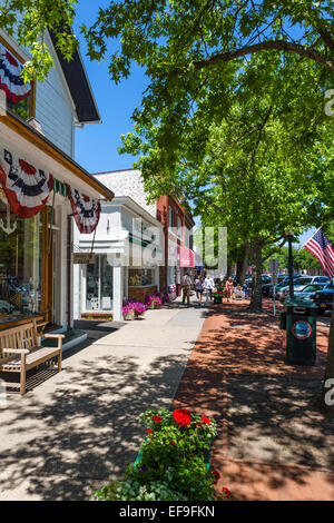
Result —
<instances>
[{"instance_id":1,"label":"large shop window with anchor decoration, above the wooden bench","mask_svg":"<svg viewBox=\"0 0 334 523\"><path fill-rule=\"evenodd\" d=\"M0 191L0 323L41 312L41 215L14 216Z\"/></svg>"}]
</instances>

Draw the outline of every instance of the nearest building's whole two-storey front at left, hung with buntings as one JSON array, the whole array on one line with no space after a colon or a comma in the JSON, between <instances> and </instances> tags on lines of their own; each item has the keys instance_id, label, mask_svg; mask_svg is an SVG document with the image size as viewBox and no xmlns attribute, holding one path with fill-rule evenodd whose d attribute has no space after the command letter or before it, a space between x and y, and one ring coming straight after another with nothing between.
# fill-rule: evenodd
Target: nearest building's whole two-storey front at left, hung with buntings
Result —
<instances>
[{"instance_id":1,"label":"nearest building's whole two-storey front at left, hung with buntings","mask_svg":"<svg viewBox=\"0 0 334 523\"><path fill-rule=\"evenodd\" d=\"M29 52L0 33L0 328L36 317L69 329L73 228L90 230L112 194L75 160L75 129L100 117L80 59L23 85ZM77 82L82 81L82 85Z\"/></svg>"}]
</instances>

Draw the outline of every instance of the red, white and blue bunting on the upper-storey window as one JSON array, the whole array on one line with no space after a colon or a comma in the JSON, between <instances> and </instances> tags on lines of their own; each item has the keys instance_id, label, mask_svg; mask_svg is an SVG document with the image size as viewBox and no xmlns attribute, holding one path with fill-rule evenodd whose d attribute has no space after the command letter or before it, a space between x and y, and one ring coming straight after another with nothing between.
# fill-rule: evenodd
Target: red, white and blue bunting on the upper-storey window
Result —
<instances>
[{"instance_id":1,"label":"red, white and blue bunting on the upper-storey window","mask_svg":"<svg viewBox=\"0 0 334 523\"><path fill-rule=\"evenodd\" d=\"M24 83L21 78L22 66L18 60L0 45L0 89L12 103L19 103L29 97L31 83Z\"/></svg>"}]
</instances>

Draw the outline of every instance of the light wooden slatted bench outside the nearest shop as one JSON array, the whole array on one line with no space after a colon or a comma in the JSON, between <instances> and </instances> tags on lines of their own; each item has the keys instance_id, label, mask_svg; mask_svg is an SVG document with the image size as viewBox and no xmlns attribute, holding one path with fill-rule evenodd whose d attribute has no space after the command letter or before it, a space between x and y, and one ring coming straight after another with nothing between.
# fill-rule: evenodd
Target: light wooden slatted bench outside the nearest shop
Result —
<instances>
[{"instance_id":1,"label":"light wooden slatted bench outside the nearest shop","mask_svg":"<svg viewBox=\"0 0 334 523\"><path fill-rule=\"evenodd\" d=\"M57 347L41 347L40 337L35 319L0 332L0 376L1 373L20 373L20 385L7 383L7 386L20 388L21 396L26 394L26 374L30 368L57 357L56 365L58 372L61 371L63 334L42 334L45 338L58 339Z\"/></svg>"}]
</instances>

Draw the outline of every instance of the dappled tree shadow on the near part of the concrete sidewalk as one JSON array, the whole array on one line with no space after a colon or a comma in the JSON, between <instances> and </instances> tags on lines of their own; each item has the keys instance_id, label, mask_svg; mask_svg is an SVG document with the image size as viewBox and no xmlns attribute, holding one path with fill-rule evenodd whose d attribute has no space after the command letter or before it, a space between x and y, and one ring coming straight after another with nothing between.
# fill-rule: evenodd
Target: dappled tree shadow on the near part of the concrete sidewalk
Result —
<instances>
[{"instance_id":1,"label":"dappled tree shadow on the near part of the concrete sidewalk","mask_svg":"<svg viewBox=\"0 0 334 523\"><path fill-rule=\"evenodd\" d=\"M88 500L94 490L121 477L136 458L148 407L170 407L184 356L157 357L144 373L136 357L82 361L46 401L12 396L0 411L0 492L41 500Z\"/></svg>"}]
</instances>

